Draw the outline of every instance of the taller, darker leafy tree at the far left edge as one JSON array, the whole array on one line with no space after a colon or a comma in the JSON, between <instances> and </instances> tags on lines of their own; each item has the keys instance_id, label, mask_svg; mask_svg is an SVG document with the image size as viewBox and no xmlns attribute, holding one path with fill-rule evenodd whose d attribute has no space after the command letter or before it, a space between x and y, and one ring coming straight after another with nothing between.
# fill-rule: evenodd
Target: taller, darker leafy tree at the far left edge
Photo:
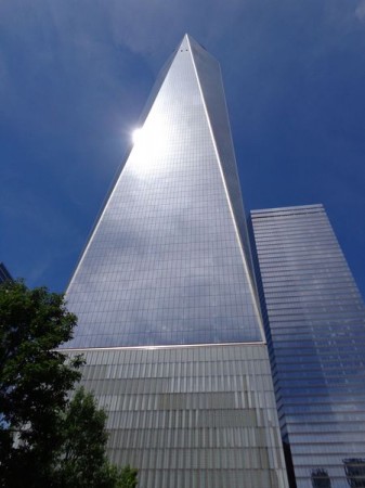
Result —
<instances>
[{"instance_id":1,"label":"taller, darker leafy tree at the far left edge","mask_svg":"<svg viewBox=\"0 0 365 488\"><path fill-rule=\"evenodd\" d=\"M60 413L80 377L81 359L55 350L71 337L76 317L62 295L28 290L21 281L0 287L1 483L42 486L58 447ZM22 470L19 470L22 466ZM6 480L6 483L3 481Z\"/></svg>"}]
</instances>

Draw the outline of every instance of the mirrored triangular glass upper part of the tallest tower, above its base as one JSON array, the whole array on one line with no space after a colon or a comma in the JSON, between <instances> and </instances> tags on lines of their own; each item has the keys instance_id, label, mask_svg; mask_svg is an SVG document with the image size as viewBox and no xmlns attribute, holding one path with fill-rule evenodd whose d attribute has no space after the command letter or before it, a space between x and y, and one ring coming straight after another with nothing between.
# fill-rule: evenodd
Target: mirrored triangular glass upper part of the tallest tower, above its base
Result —
<instances>
[{"instance_id":1,"label":"mirrored triangular glass upper part of the tallest tower, above its base","mask_svg":"<svg viewBox=\"0 0 365 488\"><path fill-rule=\"evenodd\" d=\"M164 75L68 286L69 347L263 338L219 65L185 36Z\"/></svg>"}]
</instances>

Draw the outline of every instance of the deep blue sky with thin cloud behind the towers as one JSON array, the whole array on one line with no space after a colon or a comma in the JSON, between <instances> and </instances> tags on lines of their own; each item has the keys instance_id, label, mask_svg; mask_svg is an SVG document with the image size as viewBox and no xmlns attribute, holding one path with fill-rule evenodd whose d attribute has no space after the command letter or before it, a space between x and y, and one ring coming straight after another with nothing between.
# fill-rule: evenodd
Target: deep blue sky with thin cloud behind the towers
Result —
<instances>
[{"instance_id":1,"label":"deep blue sky with thin cloud behind the towers","mask_svg":"<svg viewBox=\"0 0 365 488\"><path fill-rule=\"evenodd\" d=\"M63 291L159 68L221 63L246 209L323 203L365 295L365 0L2 0L0 260Z\"/></svg>"}]
</instances>

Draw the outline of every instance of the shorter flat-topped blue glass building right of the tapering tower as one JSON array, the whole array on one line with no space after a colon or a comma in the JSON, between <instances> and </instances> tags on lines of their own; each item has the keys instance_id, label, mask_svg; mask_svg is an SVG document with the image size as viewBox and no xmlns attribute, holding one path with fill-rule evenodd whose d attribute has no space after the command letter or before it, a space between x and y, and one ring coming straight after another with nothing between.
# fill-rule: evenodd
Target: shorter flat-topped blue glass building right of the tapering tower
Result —
<instances>
[{"instance_id":1,"label":"shorter flat-topped blue glass building right of the tapering tower","mask_svg":"<svg viewBox=\"0 0 365 488\"><path fill-rule=\"evenodd\" d=\"M251 223L297 487L365 487L365 307L326 213L257 210Z\"/></svg>"}]
</instances>

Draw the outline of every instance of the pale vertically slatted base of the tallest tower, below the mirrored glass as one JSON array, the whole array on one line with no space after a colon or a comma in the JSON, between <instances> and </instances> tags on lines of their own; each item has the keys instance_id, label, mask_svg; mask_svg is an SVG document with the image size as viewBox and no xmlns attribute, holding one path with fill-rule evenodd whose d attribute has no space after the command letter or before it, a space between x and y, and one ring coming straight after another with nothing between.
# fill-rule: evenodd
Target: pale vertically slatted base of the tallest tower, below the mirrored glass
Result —
<instances>
[{"instance_id":1,"label":"pale vertically slatted base of the tallest tower, below the mirrored glass","mask_svg":"<svg viewBox=\"0 0 365 488\"><path fill-rule=\"evenodd\" d=\"M205 479L207 488L225 487L227 479L230 488L286 486L276 407L259 402L261 396L273 397L270 371L265 368L258 375L250 368L252 360L269 363L265 345L83 352L82 383L93 386L108 413L110 457L121 465L135 465L141 487L151 488L156 479L160 488L184 486L187 479L196 484ZM180 387L169 389L166 385L175 380L178 358ZM110 360L119 375L103 376L101 368L94 383L94 364L103 367ZM144 370L139 368L142 363ZM128 380L125 367L131 367ZM223 377L219 390L213 387L217 376ZM249 397L250 406L237 404L237 395ZM154 400L145 400L148 397Z\"/></svg>"}]
</instances>

